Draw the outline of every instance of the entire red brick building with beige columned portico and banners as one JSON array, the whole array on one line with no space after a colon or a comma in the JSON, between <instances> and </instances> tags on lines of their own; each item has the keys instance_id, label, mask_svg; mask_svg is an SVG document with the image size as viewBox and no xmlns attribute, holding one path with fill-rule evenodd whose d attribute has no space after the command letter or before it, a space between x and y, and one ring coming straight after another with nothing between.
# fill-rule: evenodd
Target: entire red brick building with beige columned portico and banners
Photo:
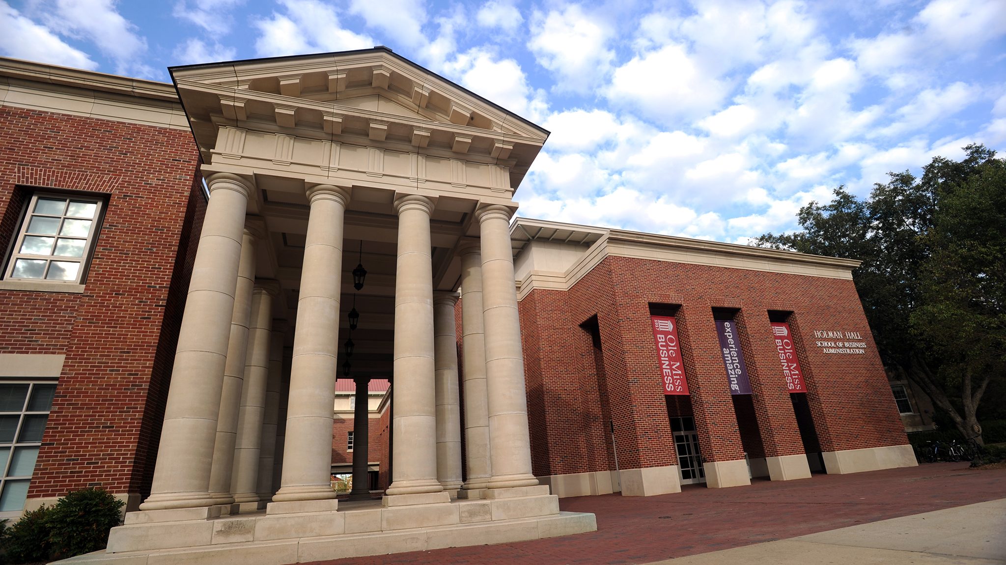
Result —
<instances>
[{"instance_id":1,"label":"entire red brick building with beige columned portico and banners","mask_svg":"<svg viewBox=\"0 0 1006 565\"><path fill-rule=\"evenodd\" d=\"M523 218L507 243L547 132L384 48L172 75L0 59L0 518L101 487L146 501L115 551L210 548L353 476L409 516L340 510L355 532L467 545L480 504L551 525L526 539L595 527L555 495L914 464L855 261Z\"/></svg>"}]
</instances>

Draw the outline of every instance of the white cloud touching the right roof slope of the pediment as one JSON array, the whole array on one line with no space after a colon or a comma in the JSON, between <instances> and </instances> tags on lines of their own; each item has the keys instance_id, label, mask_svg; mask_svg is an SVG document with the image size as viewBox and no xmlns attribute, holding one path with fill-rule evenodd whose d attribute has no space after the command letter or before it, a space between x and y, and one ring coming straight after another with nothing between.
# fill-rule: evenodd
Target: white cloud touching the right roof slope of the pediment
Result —
<instances>
[{"instance_id":1,"label":"white cloud touching the right roof slope of the pediment","mask_svg":"<svg viewBox=\"0 0 1006 565\"><path fill-rule=\"evenodd\" d=\"M544 92L532 91L517 61L497 59L484 49L459 53L445 63L445 72L466 88L532 121L540 120L546 105Z\"/></svg>"}]
</instances>

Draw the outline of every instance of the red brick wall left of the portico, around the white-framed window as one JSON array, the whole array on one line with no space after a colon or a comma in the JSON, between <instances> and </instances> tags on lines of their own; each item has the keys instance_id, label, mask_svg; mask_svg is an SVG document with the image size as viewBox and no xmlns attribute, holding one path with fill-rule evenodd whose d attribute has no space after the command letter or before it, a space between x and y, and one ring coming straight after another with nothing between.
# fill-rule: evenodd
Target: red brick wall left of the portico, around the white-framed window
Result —
<instances>
[{"instance_id":1,"label":"red brick wall left of the portico, around the white-framed window","mask_svg":"<svg viewBox=\"0 0 1006 565\"><path fill-rule=\"evenodd\" d=\"M82 295L0 291L0 352L66 355L28 496L149 489L201 218L191 134L4 107L0 157L4 249L17 185L108 198Z\"/></svg>"}]
</instances>

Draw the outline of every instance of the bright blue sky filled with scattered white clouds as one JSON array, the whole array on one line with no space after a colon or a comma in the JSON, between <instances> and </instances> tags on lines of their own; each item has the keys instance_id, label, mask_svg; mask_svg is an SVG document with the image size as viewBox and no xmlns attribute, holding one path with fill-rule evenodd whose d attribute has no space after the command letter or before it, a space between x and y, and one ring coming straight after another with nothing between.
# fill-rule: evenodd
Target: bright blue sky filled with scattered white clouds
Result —
<instances>
[{"instance_id":1,"label":"bright blue sky filled with scattered white clouds","mask_svg":"<svg viewBox=\"0 0 1006 565\"><path fill-rule=\"evenodd\" d=\"M528 217L744 242L1006 149L1004 0L0 0L0 53L156 80L373 45L552 132Z\"/></svg>"}]
</instances>

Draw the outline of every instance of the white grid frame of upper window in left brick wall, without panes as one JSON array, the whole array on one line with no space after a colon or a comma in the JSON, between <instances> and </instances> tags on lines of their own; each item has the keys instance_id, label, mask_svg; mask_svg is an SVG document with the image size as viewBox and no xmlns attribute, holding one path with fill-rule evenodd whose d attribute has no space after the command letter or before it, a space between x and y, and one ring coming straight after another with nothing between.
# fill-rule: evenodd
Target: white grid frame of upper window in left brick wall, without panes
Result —
<instances>
[{"instance_id":1,"label":"white grid frame of upper window in left brick wall, without panes","mask_svg":"<svg viewBox=\"0 0 1006 565\"><path fill-rule=\"evenodd\" d=\"M65 209L63 210L63 213L61 215L59 215L59 216L56 216L54 214L35 214L34 213L35 206L37 205L39 198L52 198L52 199L65 200L67 202L86 202L86 203L89 203L89 204L95 204L96 205L96 207L95 207L95 214L91 218L76 218L76 217L73 217L73 216L67 216ZM92 256L94 255L95 243L97 242L97 240L98 240L98 234L99 234L99 232L101 232L101 229L102 229L102 220L104 219L104 215L105 215L105 199L103 199L103 198L95 197L95 196L80 195L80 194L75 194L75 193L72 193L72 192L56 192L56 191L45 191L45 190L35 190L35 191L33 191L31 193L31 196L28 198L28 203L27 203L26 208L23 210L23 213L21 214L21 221L20 221L20 223L17 226L17 232L15 234L13 244L10 246L10 252L7 255L7 262L4 264L3 279L4 280L8 280L8 281L19 281L19 282L29 282L29 284L34 282L34 284L53 285L53 286L58 286L58 285L63 285L63 286L82 285L83 280L87 278L87 273L88 273L89 267L91 266L91 259L92 259ZM53 243L52 243L53 246L51 247L53 253L55 252L55 245L56 245L58 239L60 238L60 235L59 235L58 232L60 231L60 228L62 227L62 224L63 224L64 220L66 220L66 219L91 219L91 221L92 221L91 229L88 232L88 236L87 237L62 236L64 238L72 238L72 239L77 239L77 240L83 240L83 242L85 242L83 243L83 252L80 254L80 256L79 257L74 257L74 256L69 256L69 255L35 254L35 253L21 252L21 245L24 243L24 238L26 236L31 236L32 235L28 231L28 227L29 227L29 225L31 223L31 218L33 216L50 217L50 218L58 217L59 218L59 226L56 228L56 234L54 234L54 235L53 234L38 234L38 235L41 235L41 236L52 237L53 238ZM42 277L41 278L32 278L32 277L14 276L14 267L15 267L15 265L17 263L17 259L19 259L19 258L20 259L45 260L46 264L45 264L45 269L42 272ZM53 279L53 278L45 278L45 276L49 272L49 268L51 267L51 263L53 261L63 261L63 262L76 262L76 263L79 263L80 266L77 268L76 277L73 278L73 279L71 279L71 280L60 280L60 279Z\"/></svg>"}]
</instances>

